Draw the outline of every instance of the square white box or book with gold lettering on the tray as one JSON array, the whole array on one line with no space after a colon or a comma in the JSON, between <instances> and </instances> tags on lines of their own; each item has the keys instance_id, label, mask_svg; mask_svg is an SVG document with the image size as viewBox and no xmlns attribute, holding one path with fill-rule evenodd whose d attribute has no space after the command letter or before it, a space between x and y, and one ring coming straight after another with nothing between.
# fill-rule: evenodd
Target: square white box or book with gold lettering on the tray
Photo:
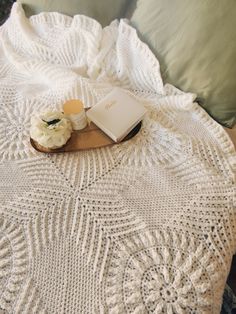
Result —
<instances>
[{"instance_id":1,"label":"square white box or book with gold lettering on the tray","mask_svg":"<svg viewBox=\"0 0 236 314\"><path fill-rule=\"evenodd\" d=\"M140 101L116 87L86 114L113 141L120 142L145 113L146 109Z\"/></svg>"}]
</instances>

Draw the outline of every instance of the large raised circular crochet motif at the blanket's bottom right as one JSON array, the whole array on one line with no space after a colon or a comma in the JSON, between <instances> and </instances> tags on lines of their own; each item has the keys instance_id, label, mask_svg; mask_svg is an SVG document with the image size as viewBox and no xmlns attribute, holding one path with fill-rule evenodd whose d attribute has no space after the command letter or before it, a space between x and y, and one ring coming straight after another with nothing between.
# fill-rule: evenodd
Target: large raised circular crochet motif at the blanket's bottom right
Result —
<instances>
[{"instance_id":1,"label":"large raised circular crochet motif at the blanket's bottom right","mask_svg":"<svg viewBox=\"0 0 236 314\"><path fill-rule=\"evenodd\" d=\"M202 246L186 235L167 239L146 233L126 240L110 262L108 312L211 313L217 273L211 264Z\"/></svg>"}]
</instances>

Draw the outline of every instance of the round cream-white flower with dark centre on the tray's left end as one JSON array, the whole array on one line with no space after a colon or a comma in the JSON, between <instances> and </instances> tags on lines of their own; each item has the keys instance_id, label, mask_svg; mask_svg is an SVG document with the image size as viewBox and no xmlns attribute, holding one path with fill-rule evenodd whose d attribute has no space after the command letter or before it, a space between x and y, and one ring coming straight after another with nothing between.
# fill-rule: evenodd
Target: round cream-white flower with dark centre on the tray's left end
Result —
<instances>
[{"instance_id":1,"label":"round cream-white flower with dark centre on the tray's left end","mask_svg":"<svg viewBox=\"0 0 236 314\"><path fill-rule=\"evenodd\" d=\"M71 137L71 122L59 111L43 112L31 118L30 136L47 148L59 148Z\"/></svg>"}]
</instances>

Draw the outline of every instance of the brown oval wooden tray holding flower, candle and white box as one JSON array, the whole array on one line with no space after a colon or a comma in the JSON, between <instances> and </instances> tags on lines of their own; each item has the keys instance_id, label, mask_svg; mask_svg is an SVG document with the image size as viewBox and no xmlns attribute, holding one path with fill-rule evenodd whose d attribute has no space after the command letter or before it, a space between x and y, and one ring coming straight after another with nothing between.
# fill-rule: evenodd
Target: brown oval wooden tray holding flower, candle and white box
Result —
<instances>
[{"instance_id":1,"label":"brown oval wooden tray holding flower, candle and white box","mask_svg":"<svg viewBox=\"0 0 236 314\"><path fill-rule=\"evenodd\" d=\"M142 122L136 125L135 128L122 140L128 141L134 137L141 129ZM56 149L50 149L39 145L36 141L30 138L30 143L34 149L42 153L64 153L74 152L78 150L99 148L108 145L118 144L108 137L102 130L100 130L92 122L83 130L73 131L69 141L62 147Z\"/></svg>"}]
</instances>

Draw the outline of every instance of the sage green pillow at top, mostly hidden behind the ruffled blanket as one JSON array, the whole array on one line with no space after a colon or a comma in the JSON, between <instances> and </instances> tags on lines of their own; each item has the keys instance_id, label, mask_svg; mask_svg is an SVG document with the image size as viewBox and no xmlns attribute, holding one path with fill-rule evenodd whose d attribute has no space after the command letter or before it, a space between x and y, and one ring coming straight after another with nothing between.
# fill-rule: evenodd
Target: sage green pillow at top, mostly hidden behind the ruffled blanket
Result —
<instances>
[{"instance_id":1,"label":"sage green pillow at top, mostly hidden behind the ruffled blanket","mask_svg":"<svg viewBox=\"0 0 236 314\"><path fill-rule=\"evenodd\" d=\"M96 19L103 26L125 15L133 0L18 0L27 16L40 12L60 12L74 16L83 14Z\"/></svg>"}]
</instances>

